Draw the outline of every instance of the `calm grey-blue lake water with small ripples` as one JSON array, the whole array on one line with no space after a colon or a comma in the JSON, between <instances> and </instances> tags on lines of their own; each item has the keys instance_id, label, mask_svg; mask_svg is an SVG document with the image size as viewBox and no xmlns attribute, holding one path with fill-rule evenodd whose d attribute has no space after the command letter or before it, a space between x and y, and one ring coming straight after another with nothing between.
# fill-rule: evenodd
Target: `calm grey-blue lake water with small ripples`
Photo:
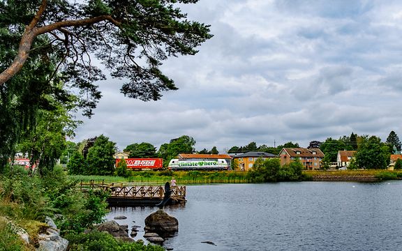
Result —
<instances>
[{"instance_id":1,"label":"calm grey-blue lake water with small ripples","mask_svg":"<svg viewBox=\"0 0 402 251\"><path fill-rule=\"evenodd\" d=\"M173 250L402 250L402 181L188 185ZM129 229L156 207L112 208ZM134 221L134 222L133 222ZM202 243L211 241L216 245Z\"/></svg>"}]
</instances>

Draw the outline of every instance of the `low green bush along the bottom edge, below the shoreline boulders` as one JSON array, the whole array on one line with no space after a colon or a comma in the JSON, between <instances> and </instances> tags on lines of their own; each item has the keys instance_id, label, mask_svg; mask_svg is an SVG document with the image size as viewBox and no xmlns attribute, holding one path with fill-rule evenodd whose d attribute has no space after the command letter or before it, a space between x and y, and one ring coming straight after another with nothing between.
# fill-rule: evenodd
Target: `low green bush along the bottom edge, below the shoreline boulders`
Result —
<instances>
[{"instance_id":1,"label":"low green bush along the bottom edge, below the shoreline boulders","mask_svg":"<svg viewBox=\"0 0 402 251\"><path fill-rule=\"evenodd\" d=\"M118 241L110 234L91 231L89 234L68 234L70 251L163 251L158 245L144 245L142 243L127 243Z\"/></svg>"}]
</instances>

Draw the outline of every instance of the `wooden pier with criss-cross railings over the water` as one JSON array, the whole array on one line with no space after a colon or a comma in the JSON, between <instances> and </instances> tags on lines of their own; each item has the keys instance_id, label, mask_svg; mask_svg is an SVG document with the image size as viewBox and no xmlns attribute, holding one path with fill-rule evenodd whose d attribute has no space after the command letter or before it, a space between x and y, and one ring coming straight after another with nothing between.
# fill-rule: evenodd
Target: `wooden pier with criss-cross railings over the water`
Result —
<instances>
[{"instance_id":1,"label":"wooden pier with criss-cross railings over the water","mask_svg":"<svg viewBox=\"0 0 402 251\"><path fill-rule=\"evenodd\" d=\"M186 201L186 186L172 186L170 204ZM124 183L89 183L80 182L80 190L104 190L110 192L107 202L110 206L146 206L156 205L163 200L164 185L129 185Z\"/></svg>"}]
</instances>

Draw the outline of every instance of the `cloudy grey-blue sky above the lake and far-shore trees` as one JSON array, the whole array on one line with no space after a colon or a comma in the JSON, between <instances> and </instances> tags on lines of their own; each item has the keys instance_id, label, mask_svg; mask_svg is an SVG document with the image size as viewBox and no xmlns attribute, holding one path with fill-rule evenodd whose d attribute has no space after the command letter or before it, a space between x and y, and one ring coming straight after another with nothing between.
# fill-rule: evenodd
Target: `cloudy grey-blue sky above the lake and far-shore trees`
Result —
<instances>
[{"instance_id":1,"label":"cloudy grey-blue sky above the lake and far-shore trees","mask_svg":"<svg viewBox=\"0 0 402 251\"><path fill-rule=\"evenodd\" d=\"M249 142L276 146L355 132L402 137L402 1L200 0L184 10L211 24L195 56L163 65L178 91L157 102L103 98L75 142L106 135L120 150L157 148L181 135L223 153Z\"/></svg>"}]
</instances>

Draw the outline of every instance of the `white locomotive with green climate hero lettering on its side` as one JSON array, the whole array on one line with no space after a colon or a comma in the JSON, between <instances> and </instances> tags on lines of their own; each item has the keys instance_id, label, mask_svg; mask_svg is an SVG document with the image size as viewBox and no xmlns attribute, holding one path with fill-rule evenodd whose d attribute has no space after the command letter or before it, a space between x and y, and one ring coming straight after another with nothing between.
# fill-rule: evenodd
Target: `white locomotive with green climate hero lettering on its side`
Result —
<instances>
[{"instance_id":1,"label":"white locomotive with green climate hero lettering on its side","mask_svg":"<svg viewBox=\"0 0 402 251\"><path fill-rule=\"evenodd\" d=\"M171 170L228 170L228 162L216 160L181 160L172 159L168 168Z\"/></svg>"}]
</instances>

